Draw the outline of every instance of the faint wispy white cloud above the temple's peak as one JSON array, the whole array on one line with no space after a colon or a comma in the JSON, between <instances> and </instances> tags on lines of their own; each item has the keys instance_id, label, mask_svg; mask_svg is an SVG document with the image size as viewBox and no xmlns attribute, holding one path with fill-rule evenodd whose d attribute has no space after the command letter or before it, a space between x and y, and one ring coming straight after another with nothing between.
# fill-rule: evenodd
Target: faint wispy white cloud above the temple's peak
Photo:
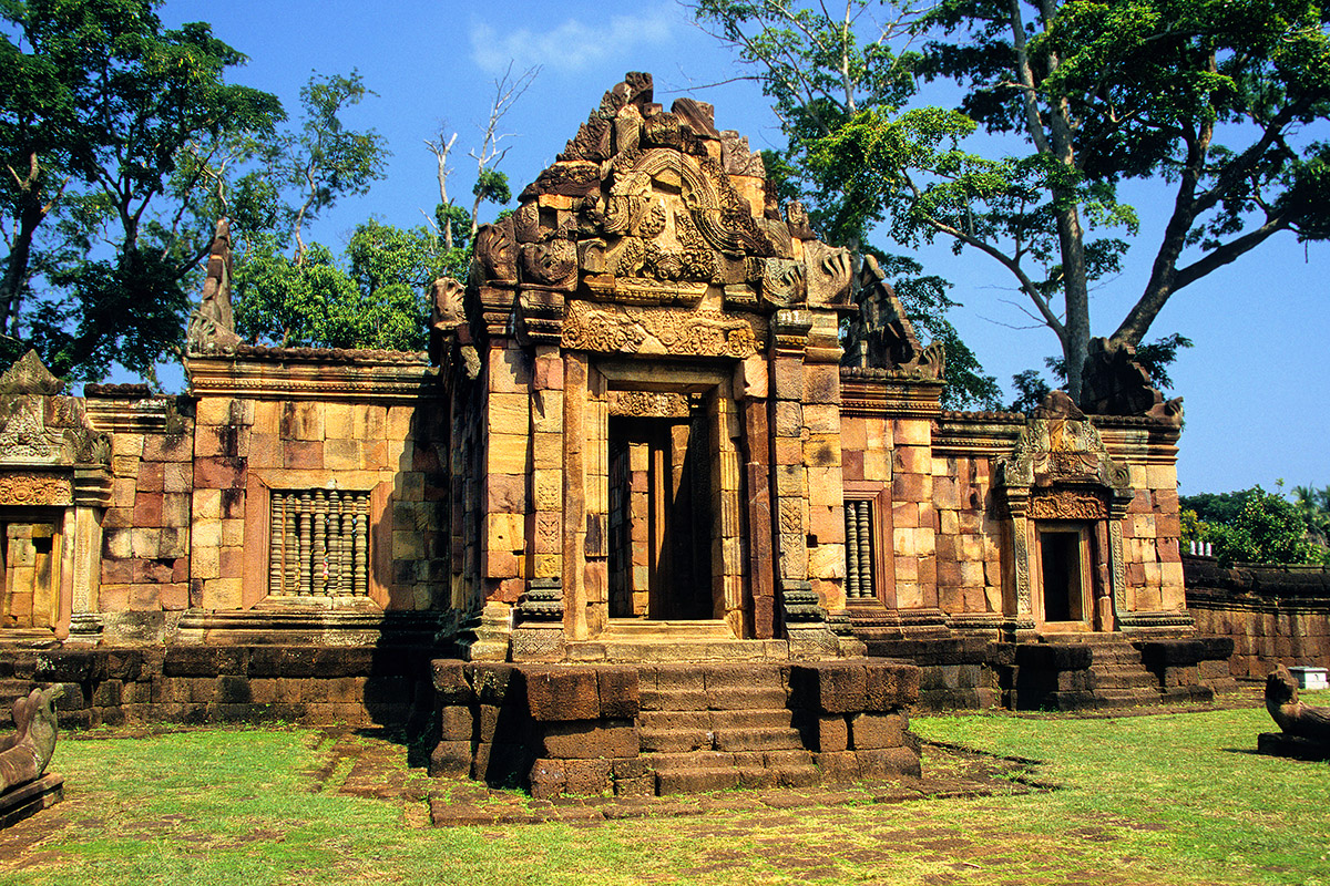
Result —
<instances>
[{"instance_id":1,"label":"faint wispy white cloud above the temple's peak","mask_svg":"<svg viewBox=\"0 0 1330 886\"><path fill-rule=\"evenodd\" d=\"M543 65L549 70L573 73L633 52L641 44L660 45L673 40L672 7L636 16L610 16L608 25L596 27L569 19L552 31L496 31L477 21L471 25L471 57L485 72L501 74L509 61L515 69Z\"/></svg>"}]
</instances>

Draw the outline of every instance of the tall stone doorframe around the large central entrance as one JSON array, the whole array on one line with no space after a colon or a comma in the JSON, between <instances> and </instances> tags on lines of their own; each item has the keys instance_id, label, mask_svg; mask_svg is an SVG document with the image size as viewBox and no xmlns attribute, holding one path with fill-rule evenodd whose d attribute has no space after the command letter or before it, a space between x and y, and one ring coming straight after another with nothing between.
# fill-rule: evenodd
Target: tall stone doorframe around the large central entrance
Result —
<instances>
[{"instance_id":1,"label":"tall stone doorframe around the large central entrance","mask_svg":"<svg viewBox=\"0 0 1330 886\"><path fill-rule=\"evenodd\" d=\"M616 414L654 414L661 397L638 395L701 395L706 400L708 450L712 460L712 599L716 618L735 638L743 638L747 561L742 526L739 446L742 422L734 399L732 365L697 367L641 360L593 359L587 363L585 399L565 400L568 434L581 428L580 458L565 464L564 495L564 627L572 640L584 640L609 626L609 416L612 392ZM584 530L584 531L579 531ZM569 541L572 543L569 543ZM580 542L580 543L579 543Z\"/></svg>"}]
</instances>

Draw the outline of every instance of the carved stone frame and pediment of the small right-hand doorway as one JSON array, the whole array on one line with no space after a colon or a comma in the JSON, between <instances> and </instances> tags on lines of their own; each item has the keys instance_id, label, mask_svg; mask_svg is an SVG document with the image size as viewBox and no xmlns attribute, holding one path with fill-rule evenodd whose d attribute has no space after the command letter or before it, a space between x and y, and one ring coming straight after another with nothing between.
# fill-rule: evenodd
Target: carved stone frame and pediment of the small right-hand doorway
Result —
<instances>
[{"instance_id":1,"label":"carved stone frame and pediment of the small right-hand doorway","mask_svg":"<svg viewBox=\"0 0 1330 886\"><path fill-rule=\"evenodd\" d=\"M1087 527L1092 588L1087 622L1096 631L1116 631L1127 599L1123 518L1134 491L1127 466L1109 458L1093 424L1075 406L1063 414L1036 412L1015 452L996 461L994 491L1005 511L1015 573L1013 592L1003 599L1009 628L1039 627L1035 582L1043 579L1032 575L1033 547L1040 525L1059 522Z\"/></svg>"}]
</instances>

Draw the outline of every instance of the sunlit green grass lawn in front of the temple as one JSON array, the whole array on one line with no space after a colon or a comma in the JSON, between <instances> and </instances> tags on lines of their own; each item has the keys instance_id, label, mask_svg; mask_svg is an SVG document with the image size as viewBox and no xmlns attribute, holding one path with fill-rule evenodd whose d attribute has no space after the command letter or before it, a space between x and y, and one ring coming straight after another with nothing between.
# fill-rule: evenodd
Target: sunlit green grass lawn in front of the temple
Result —
<instances>
[{"instance_id":1,"label":"sunlit green grass lawn in front of the temple","mask_svg":"<svg viewBox=\"0 0 1330 886\"><path fill-rule=\"evenodd\" d=\"M1330 697L1309 697L1318 704ZM1302 883L1330 886L1330 765L1261 757L1264 709L918 717L1057 790L593 825L434 829L319 790L303 729L63 740L66 801L0 832L0 883ZM423 778L422 776L414 776ZM329 781L335 784L335 778Z\"/></svg>"}]
</instances>

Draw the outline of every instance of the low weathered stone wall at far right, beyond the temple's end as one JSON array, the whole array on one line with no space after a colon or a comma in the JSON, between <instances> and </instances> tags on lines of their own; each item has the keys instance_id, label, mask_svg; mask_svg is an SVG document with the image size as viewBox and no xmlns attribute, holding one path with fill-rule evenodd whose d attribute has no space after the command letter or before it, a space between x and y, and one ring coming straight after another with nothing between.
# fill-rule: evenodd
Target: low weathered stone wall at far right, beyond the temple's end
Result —
<instances>
[{"instance_id":1,"label":"low weathered stone wall at far right, beyond the temple's end","mask_svg":"<svg viewBox=\"0 0 1330 886\"><path fill-rule=\"evenodd\" d=\"M1277 664L1330 667L1330 569L1221 567L1210 557L1182 565L1196 630L1233 640L1233 676L1264 679Z\"/></svg>"}]
</instances>

